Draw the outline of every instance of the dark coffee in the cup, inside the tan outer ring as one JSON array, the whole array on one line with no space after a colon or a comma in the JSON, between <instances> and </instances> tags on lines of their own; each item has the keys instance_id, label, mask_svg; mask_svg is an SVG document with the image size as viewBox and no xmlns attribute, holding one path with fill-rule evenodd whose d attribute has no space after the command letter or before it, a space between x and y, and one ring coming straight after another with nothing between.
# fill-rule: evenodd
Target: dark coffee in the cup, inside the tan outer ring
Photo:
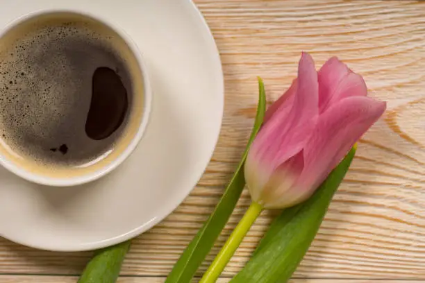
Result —
<instances>
[{"instance_id":1,"label":"dark coffee in the cup, inside the tan outer ring","mask_svg":"<svg viewBox=\"0 0 425 283\"><path fill-rule=\"evenodd\" d=\"M111 37L57 19L1 43L0 135L12 151L83 166L113 150L132 89Z\"/></svg>"}]
</instances>

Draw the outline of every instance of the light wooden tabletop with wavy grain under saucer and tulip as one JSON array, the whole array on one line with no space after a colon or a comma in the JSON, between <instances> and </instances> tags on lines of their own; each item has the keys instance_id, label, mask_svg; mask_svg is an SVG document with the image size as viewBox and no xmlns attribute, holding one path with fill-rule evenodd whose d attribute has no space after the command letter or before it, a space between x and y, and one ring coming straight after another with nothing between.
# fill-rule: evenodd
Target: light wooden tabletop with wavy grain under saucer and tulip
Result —
<instances>
[{"instance_id":1,"label":"light wooden tabletop with wavy grain under saucer and tulip","mask_svg":"<svg viewBox=\"0 0 425 283\"><path fill-rule=\"evenodd\" d=\"M163 282L206 220L240 159L257 80L274 101L301 51L322 65L338 55L388 112L360 141L349 174L292 283L425 282L425 2L197 0L222 56L226 105L215 155L196 189L134 241L120 283ZM244 193L217 242L245 209ZM276 212L265 212L226 268L237 273ZM204 263L201 275L217 252ZM90 252L33 250L0 239L0 282L76 282ZM381 280L381 281L379 281Z\"/></svg>"}]
</instances>

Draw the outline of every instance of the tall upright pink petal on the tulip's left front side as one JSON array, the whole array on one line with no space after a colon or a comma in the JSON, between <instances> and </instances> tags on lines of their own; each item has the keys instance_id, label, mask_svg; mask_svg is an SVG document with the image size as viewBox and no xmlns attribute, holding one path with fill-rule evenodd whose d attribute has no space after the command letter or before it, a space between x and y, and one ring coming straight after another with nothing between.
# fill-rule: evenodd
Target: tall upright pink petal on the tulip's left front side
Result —
<instances>
[{"instance_id":1,"label":"tall upright pink petal on the tulip's left front side","mask_svg":"<svg viewBox=\"0 0 425 283\"><path fill-rule=\"evenodd\" d=\"M278 108L253 141L250 154L254 160L266 160L268 171L301 151L308 141L318 117L319 85L315 63L308 53L299 60L297 92L294 103Z\"/></svg>"}]
</instances>

